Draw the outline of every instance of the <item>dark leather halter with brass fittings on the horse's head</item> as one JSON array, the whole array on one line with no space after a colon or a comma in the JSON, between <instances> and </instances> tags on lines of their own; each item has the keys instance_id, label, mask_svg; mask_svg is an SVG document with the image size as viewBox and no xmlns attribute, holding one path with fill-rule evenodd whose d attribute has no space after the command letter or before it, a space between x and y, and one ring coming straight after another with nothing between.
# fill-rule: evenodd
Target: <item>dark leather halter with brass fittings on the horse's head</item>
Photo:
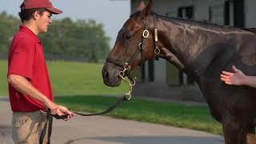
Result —
<instances>
[{"instance_id":1,"label":"dark leather halter with brass fittings on the horse's head","mask_svg":"<svg viewBox=\"0 0 256 144\"><path fill-rule=\"evenodd\" d=\"M159 49L159 46L158 46L158 29L156 28L157 14L153 14L153 16L154 16L154 58L156 60L158 60L159 54L160 54L160 49ZM122 62L122 61L116 60L114 58L109 58L108 57L108 58L106 58L106 62L111 62L111 63L114 63L114 65L116 65L116 66L121 66L124 69L121 72L125 73L127 70L130 70L130 68L126 69L126 67L130 67L131 62L133 61L134 57L137 56L138 53L141 53L141 58L142 58L141 59L141 64L142 64L145 61L144 53L145 53L145 50L146 50L146 43L147 43L146 38L148 38L149 35L150 35L149 22L146 21L146 25L145 25L145 28L144 28L143 33L142 33L142 42L138 43L138 49L130 57L129 61L128 62ZM124 77L125 74L123 74L122 76Z\"/></svg>"}]
</instances>

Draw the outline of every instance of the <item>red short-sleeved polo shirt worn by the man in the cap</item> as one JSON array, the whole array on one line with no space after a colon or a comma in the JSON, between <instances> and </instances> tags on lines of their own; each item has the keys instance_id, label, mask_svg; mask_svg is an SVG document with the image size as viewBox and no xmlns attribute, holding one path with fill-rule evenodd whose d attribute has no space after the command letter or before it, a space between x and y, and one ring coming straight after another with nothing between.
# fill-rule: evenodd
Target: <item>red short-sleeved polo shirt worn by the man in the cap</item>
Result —
<instances>
[{"instance_id":1,"label":"red short-sleeved polo shirt worn by the man in the cap","mask_svg":"<svg viewBox=\"0 0 256 144\"><path fill-rule=\"evenodd\" d=\"M42 42L26 26L20 26L11 42L8 74L25 77L37 90L54 101ZM10 106L14 112L46 110L43 103L22 94L9 84Z\"/></svg>"}]
</instances>

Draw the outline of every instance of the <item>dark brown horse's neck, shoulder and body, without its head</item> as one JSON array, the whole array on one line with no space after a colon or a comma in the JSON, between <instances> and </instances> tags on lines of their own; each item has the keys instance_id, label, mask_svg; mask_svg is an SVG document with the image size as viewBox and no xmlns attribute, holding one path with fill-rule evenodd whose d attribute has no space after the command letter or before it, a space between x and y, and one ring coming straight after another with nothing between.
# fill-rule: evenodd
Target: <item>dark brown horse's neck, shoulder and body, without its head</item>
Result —
<instances>
[{"instance_id":1,"label":"dark brown horse's neck, shoulder and body, without its head","mask_svg":"<svg viewBox=\"0 0 256 144\"><path fill-rule=\"evenodd\" d=\"M254 134L256 89L226 86L219 75L232 65L256 75L256 34L161 16L158 25L159 41L178 59L172 63L182 63L186 74L198 83L210 113L222 122L226 143L246 143L246 134Z\"/></svg>"}]
</instances>

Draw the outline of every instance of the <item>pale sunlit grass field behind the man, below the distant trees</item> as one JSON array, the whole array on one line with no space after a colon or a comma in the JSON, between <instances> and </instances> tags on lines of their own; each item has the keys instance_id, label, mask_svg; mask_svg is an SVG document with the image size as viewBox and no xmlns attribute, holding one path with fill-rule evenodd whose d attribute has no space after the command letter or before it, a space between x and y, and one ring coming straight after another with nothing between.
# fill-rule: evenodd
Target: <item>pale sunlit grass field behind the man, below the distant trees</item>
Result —
<instances>
[{"instance_id":1,"label":"pale sunlit grass field behind the man, below the distant trees","mask_svg":"<svg viewBox=\"0 0 256 144\"><path fill-rule=\"evenodd\" d=\"M107 87L102 81L103 64L85 62L47 62L54 95L123 94L128 86ZM6 61L0 61L0 95L6 96Z\"/></svg>"}]
</instances>

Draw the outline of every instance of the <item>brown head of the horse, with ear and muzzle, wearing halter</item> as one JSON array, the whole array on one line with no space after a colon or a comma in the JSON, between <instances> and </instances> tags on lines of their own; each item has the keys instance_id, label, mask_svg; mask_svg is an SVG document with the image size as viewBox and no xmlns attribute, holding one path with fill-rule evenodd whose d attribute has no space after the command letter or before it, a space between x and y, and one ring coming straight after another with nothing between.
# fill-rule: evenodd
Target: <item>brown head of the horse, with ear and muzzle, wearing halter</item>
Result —
<instances>
[{"instance_id":1,"label":"brown head of the horse, with ear and muzzle, wearing halter","mask_svg":"<svg viewBox=\"0 0 256 144\"><path fill-rule=\"evenodd\" d=\"M142 5L139 7L142 9ZM150 18L152 18L151 0L145 8L130 16L119 30L114 48L106 58L102 69L102 77L106 86L119 86L120 72L122 76L131 79L130 70L154 58L153 30L149 29L147 22Z\"/></svg>"}]
</instances>

